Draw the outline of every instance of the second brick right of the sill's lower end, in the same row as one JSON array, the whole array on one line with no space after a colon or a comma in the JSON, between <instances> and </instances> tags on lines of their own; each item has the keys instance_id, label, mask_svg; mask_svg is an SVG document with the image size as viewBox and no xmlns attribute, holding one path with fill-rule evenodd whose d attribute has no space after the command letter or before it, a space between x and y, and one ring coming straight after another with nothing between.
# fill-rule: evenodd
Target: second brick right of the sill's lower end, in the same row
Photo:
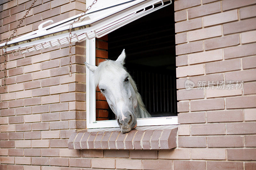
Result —
<instances>
[{"instance_id":1,"label":"second brick right of the sill's lower end, in the same row","mask_svg":"<svg viewBox=\"0 0 256 170\"><path fill-rule=\"evenodd\" d=\"M212 136L207 137L208 147L243 147L244 137L242 136Z\"/></svg>"}]
</instances>

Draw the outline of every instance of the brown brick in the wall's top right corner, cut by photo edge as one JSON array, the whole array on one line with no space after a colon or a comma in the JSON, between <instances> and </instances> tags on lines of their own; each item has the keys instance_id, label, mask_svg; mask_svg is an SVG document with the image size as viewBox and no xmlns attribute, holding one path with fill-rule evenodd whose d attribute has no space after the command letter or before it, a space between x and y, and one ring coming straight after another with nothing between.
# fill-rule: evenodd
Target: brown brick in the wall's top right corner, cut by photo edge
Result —
<instances>
[{"instance_id":1,"label":"brown brick in the wall's top right corner, cut by photo edge","mask_svg":"<svg viewBox=\"0 0 256 170\"><path fill-rule=\"evenodd\" d=\"M243 3L239 0L227 0L227 1L222 3L222 10L223 11L231 10L231 9L234 9L234 8L239 8L239 7L246 6L246 5L251 5L251 4L255 4L255 1L248 0L248 1L245 1Z\"/></svg>"}]
</instances>

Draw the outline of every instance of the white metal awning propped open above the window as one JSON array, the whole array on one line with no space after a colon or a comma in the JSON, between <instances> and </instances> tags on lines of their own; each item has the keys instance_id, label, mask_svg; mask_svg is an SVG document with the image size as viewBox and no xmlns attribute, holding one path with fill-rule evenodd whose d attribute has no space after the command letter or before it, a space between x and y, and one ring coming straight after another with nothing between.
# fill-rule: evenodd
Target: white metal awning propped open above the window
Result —
<instances>
[{"instance_id":1,"label":"white metal awning propped open above the window","mask_svg":"<svg viewBox=\"0 0 256 170\"><path fill-rule=\"evenodd\" d=\"M98 11L88 11L85 16L81 17L81 22L73 24L71 42L81 42L95 37L100 38L171 3L172 0L131 0ZM19 55L68 44L70 41L69 26L79 16L81 14L46 27L42 27L42 24L38 27L38 30L9 41L7 51L12 51L13 55ZM48 22L50 21L48 20ZM3 48L4 44L0 44L0 48Z\"/></svg>"}]
</instances>

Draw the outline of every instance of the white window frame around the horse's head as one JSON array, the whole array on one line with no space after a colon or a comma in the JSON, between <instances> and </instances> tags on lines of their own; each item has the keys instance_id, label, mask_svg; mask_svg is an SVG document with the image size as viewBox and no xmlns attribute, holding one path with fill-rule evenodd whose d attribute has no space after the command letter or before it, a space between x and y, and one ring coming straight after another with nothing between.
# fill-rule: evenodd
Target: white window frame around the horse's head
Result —
<instances>
[{"instance_id":1,"label":"white window frame around the horse's head","mask_svg":"<svg viewBox=\"0 0 256 170\"><path fill-rule=\"evenodd\" d=\"M86 40L86 62L95 65L95 38ZM86 68L86 127L110 128L119 127L116 120L96 121L96 87L93 82L93 73ZM152 117L137 119L137 126L176 125L178 116Z\"/></svg>"}]
</instances>

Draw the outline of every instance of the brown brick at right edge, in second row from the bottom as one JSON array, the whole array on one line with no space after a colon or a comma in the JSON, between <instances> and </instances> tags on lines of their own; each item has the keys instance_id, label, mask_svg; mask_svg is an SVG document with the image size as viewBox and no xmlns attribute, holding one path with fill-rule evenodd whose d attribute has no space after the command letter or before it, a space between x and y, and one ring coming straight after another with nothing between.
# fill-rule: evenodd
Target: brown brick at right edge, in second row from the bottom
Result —
<instances>
[{"instance_id":1,"label":"brown brick at right edge, in second row from the bottom","mask_svg":"<svg viewBox=\"0 0 256 170\"><path fill-rule=\"evenodd\" d=\"M228 160L256 160L256 149L227 149Z\"/></svg>"}]
</instances>

